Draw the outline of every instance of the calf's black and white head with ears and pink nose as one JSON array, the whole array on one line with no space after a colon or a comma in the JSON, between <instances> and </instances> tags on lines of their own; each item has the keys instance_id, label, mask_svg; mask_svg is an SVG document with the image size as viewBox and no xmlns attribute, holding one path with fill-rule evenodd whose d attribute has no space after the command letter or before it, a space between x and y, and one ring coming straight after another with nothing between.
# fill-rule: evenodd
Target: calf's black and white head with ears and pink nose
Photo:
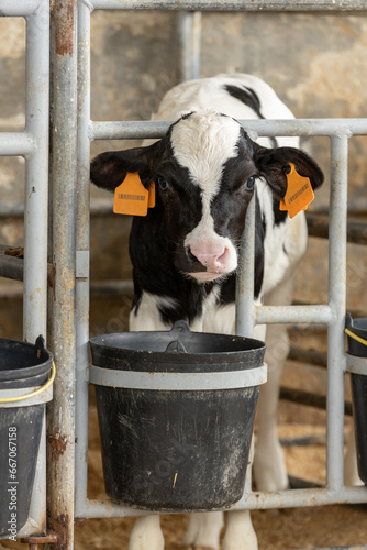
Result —
<instances>
[{"instance_id":1,"label":"calf's black and white head with ears and pink nose","mask_svg":"<svg viewBox=\"0 0 367 550\"><path fill-rule=\"evenodd\" d=\"M93 160L90 175L92 183L111 191L127 172L138 172L146 188L154 180L156 208L164 217L176 267L207 282L236 270L256 179L265 178L280 200L287 190L288 163L309 177L314 189L321 186L322 172L302 151L259 146L237 121L205 110L184 116L153 145L102 153Z\"/></svg>"}]
</instances>

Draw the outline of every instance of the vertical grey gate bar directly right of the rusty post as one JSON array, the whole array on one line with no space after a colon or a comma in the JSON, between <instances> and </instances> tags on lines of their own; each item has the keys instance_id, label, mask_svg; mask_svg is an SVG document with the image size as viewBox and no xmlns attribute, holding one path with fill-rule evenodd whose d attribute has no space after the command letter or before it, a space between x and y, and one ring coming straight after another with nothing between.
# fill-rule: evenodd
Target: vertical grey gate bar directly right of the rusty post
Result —
<instances>
[{"instance_id":1,"label":"vertical grey gate bar directly right of the rusty post","mask_svg":"<svg viewBox=\"0 0 367 550\"><path fill-rule=\"evenodd\" d=\"M89 254L89 160L90 141L90 11L78 3L78 201L76 249L81 256ZM88 474L88 342L89 342L89 258L76 279L76 452L75 514L79 515L87 499Z\"/></svg>"}]
</instances>

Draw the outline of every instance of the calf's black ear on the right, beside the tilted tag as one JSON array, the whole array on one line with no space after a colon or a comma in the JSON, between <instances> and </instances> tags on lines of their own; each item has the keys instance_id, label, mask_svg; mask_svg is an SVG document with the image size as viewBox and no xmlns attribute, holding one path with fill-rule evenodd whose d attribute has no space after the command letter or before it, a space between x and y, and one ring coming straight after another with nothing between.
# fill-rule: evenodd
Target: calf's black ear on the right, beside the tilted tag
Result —
<instances>
[{"instance_id":1,"label":"calf's black ear on the right, beside the tilted tag","mask_svg":"<svg viewBox=\"0 0 367 550\"><path fill-rule=\"evenodd\" d=\"M286 195L289 163L294 165L301 176L310 179L313 189L323 184L322 170L303 151L294 147L267 148L255 145L254 160L258 175L267 180L276 198L282 199Z\"/></svg>"}]
</instances>

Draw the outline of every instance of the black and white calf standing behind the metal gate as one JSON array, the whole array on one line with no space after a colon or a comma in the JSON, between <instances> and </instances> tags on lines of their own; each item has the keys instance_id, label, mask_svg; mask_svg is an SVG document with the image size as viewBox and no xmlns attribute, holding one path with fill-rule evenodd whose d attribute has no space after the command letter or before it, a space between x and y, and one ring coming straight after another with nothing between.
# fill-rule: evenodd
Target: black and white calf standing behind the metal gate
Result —
<instances>
[{"instance_id":1,"label":"black and white calf standing behind the metal gate","mask_svg":"<svg viewBox=\"0 0 367 550\"><path fill-rule=\"evenodd\" d=\"M180 117L180 118L179 118ZM103 153L91 179L113 191L126 173L156 184L156 206L134 217L130 254L134 268L131 330L169 329L186 319L192 330L234 332L234 289L238 241L247 206L256 200L256 300L291 301L293 274L307 243L303 212L290 219L279 209L289 163L312 187L323 175L298 147L298 139L254 142L236 119L290 119L289 109L264 81L248 75L219 76L181 84L164 98L156 120L177 120L165 138L130 151ZM265 329L255 333L265 337ZM254 460L257 488L287 487L277 438L276 409L288 340L282 327L267 329L268 383L258 403ZM192 515L186 544L219 548L221 513ZM135 522L130 550L163 550L158 516ZM248 512L229 514L225 550L254 550Z\"/></svg>"}]
</instances>

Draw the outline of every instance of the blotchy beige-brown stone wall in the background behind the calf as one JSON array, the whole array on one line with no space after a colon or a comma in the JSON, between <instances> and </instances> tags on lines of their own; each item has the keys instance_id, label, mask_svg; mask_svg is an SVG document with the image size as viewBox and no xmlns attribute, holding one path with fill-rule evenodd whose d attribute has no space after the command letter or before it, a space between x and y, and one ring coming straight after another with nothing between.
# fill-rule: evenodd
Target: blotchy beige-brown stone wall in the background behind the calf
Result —
<instances>
[{"instance_id":1,"label":"blotchy beige-brown stone wall in the background behind the calf","mask_svg":"<svg viewBox=\"0 0 367 550\"><path fill-rule=\"evenodd\" d=\"M91 67L94 120L145 120L177 82L176 13L92 14ZM24 21L0 19L0 131L24 124ZM367 18L363 14L214 13L202 16L201 75L252 73L264 78L298 118L364 117L367 105ZM96 142L92 154L122 148L122 142ZM324 172L326 183L311 208L327 210L329 140L303 142ZM366 138L351 140L348 205L367 211ZM24 162L0 158L1 208L23 199ZM93 204L110 197L91 190ZM93 280L130 278L126 253L129 220L92 216ZM21 244L19 218L0 218L0 242ZM348 246L348 307L367 309L365 249ZM325 300L326 243L310 239L297 283L297 296ZM9 283L0 279L1 293ZM13 285L11 285L13 287ZM0 328L0 336L7 330Z\"/></svg>"}]
</instances>

